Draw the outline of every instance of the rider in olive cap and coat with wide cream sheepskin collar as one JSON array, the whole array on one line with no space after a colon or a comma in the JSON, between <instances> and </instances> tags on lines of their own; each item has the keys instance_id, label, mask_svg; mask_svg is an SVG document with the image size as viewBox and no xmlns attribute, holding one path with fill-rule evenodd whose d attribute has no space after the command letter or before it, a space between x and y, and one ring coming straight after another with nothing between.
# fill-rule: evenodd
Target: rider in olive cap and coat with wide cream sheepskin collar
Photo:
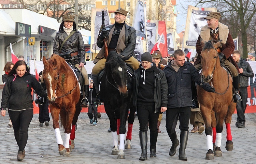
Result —
<instances>
[{"instance_id":1,"label":"rider in olive cap and coat with wide cream sheepskin collar","mask_svg":"<svg viewBox=\"0 0 256 164\"><path fill-rule=\"evenodd\" d=\"M233 87L236 90L236 92L233 94L233 101L237 103L241 102L242 99L241 96L238 94L239 68L231 56L231 54L234 51L234 42L229 32L228 26L220 23L219 18L221 18L221 14L219 12L210 12L206 17L204 17L204 19L207 20L207 25L201 28L200 35L198 36L198 40L196 43L196 51L198 57L194 65L197 71L201 69L201 38L207 42L209 40L213 40L214 43L217 43L218 41L222 40L222 44L220 47L217 48L217 52L219 54L219 60L221 61L221 63L224 63L224 65L231 71L233 75ZM194 106L197 106L197 104L194 103Z\"/></svg>"}]
</instances>

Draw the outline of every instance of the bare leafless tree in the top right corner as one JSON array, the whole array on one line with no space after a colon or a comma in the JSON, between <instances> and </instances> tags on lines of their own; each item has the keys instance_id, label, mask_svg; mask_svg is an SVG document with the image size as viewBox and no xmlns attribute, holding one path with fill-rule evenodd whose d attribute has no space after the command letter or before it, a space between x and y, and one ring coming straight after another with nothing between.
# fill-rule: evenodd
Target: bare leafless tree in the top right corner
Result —
<instances>
[{"instance_id":1,"label":"bare leafless tree in the top right corner","mask_svg":"<svg viewBox=\"0 0 256 164\"><path fill-rule=\"evenodd\" d=\"M232 20L232 14L237 15L239 21L234 25L239 27L242 35L243 58L247 58L247 28L249 27L253 16L256 13L255 0L196 0L198 4L208 4L217 6L217 11L225 15L226 19ZM230 26L230 25L229 25Z\"/></svg>"}]
</instances>

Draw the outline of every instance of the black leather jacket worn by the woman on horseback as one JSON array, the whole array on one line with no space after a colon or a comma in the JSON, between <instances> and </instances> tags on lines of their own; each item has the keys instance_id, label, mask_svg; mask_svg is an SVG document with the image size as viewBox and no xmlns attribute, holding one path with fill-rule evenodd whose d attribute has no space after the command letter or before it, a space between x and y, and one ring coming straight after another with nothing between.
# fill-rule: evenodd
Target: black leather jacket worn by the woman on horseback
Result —
<instances>
[{"instance_id":1,"label":"black leather jacket worn by the woman on horseback","mask_svg":"<svg viewBox=\"0 0 256 164\"><path fill-rule=\"evenodd\" d=\"M59 48L61 47L63 41L68 37L68 34L60 30L56 33L55 39L53 42L53 53L54 54L61 54L66 52L75 53L78 52L77 56L75 57L75 60L79 63L85 64L85 48L84 48L84 41L82 34L79 31L75 31L72 36L64 43L62 46L61 52L59 51Z\"/></svg>"}]
</instances>

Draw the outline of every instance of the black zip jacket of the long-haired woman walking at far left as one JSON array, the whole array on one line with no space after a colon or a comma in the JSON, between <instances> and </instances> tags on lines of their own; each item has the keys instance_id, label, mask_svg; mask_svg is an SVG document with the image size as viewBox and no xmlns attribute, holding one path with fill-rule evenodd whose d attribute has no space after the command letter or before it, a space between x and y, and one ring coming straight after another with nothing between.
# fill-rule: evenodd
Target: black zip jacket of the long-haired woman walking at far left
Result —
<instances>
[{"instance_id":1,"label":"black zip jacket of the long-haired woman walking at far left","mask_svg":"<svg viewBox=\"0 0 256 164\"><path fill-rule=\"evenodd\" d=\"M16 74L15 76L8 76L3 87L1 110L5 108L12 110L33 108L31 88L41 97L47 97L46 90L31 74L25 73L22 77Z\"/></svg>"}]
</instances>

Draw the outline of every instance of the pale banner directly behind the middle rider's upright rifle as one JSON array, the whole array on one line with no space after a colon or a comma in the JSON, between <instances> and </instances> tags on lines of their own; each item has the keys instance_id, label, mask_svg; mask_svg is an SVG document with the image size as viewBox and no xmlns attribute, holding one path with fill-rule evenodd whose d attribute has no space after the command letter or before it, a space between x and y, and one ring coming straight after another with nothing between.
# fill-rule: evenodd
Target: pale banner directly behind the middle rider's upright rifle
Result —
<instances>
[{"instance_id":1,"label":"pale banner directly behind the middle rider's upright rifle","mask_svg":"<svg viewBox=\"0 0 256 164\"><path fill-rule=\"evenodd\" d=\"M97 38L100 31L100 27L102 25L102 16L101 16L102 9L91 9L91 52L92 53L99 53L100 49L97 44ZM108 8L105 7L104 9L104 17L105 17L105 26L111 25L110 16L108 12Z\"/></svg>"}]
</instances>

